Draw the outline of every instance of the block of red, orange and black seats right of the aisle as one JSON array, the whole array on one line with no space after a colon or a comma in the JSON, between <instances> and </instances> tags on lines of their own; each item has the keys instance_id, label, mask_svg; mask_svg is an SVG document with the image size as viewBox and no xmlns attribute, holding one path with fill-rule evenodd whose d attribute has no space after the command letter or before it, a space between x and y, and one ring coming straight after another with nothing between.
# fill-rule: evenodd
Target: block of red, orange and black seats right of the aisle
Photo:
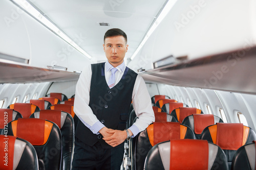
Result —
<instances>
[{"instance_id":1,"label":"block of red, orange and black seats right of the aisle","mask_svg":"<svg viewBox=\"0 0 256 170\"><path fill-rule=\"evenodd\" d=\"M165 100L161 102L164 103ZM163 106L161 102L158 103ZM207 169L244 169L243 166L255 169L256 150L252 141L256 140L256 134L251 128L243 124L223 123L220 117L203 114L196 108L179 107L168 114L154 105L153 110L155 123L129 142L132 169L188 169L188 167L201 169L197 163L202 162L211 162L207 164ZM131 112L130 117L136 117L134 111ZM136 118L134 119L136 121ZM207 140L207 144L204 140ZM204 149L200 150L202 145ZM252 148L252 150L248 153L244 148L247 150ZM202 161L205 158L201 159L200 155L205 151L208 152L207 154L215 153L215 155L208 155L205 158L211 159ZM170 155L173 157L170 158ZM241 161L242 157L243 161ZM178 167L178 164L186 165L186 168Z\"/></svg>"}]
</instances>

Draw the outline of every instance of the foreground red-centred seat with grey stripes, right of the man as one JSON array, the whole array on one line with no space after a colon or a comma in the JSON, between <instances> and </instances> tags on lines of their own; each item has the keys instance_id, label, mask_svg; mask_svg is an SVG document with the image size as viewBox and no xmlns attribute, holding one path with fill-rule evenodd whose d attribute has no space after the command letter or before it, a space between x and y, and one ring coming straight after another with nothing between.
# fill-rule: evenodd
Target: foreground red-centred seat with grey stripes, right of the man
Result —
<instances>
[{"instance_id":1,"label":"foreground red-centred seat with grey stripes, right of the man","mask_svg":"<svg viewBox=\"0 0 256 170\"><path fill-rule=\"evenodd\" d=\"M148 152L145 170L228 170L224 152L206 140L173 139L158 143Z\"/></svg>"}]
</instances>

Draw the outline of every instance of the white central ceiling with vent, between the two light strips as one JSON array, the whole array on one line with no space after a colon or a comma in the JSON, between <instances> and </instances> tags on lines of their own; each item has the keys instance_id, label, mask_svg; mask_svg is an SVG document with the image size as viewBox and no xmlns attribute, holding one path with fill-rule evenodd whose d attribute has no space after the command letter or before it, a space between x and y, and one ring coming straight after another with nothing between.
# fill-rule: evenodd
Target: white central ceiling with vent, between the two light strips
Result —
<instances>
[{"instance_id":1,"label":"white central ceiling with vent, between the two light strips","mask_svg":"<svg viewBox=\"0 0 256 170\"><path fill-rule=\"evenodd\" d=\"M131 58L166 0L37 0L31 4L52 20L75 42L83 37L80 47L96 62L106 61L103 52L104 33L111 28L122 29L128 37ZM99 22L109 23L100 26ZM79 43L79 42L77 42Z\"/></svg>"}]
</instances>

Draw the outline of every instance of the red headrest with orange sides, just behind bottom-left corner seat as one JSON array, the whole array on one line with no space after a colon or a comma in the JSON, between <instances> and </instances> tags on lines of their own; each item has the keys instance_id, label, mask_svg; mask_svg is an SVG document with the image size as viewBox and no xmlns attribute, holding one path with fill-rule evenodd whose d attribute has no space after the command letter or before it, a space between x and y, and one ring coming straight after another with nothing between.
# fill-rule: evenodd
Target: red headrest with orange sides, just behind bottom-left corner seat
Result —
<instances>
[{"instance_id":1,"label":"red headrest with orange sides, just behind bottom-left corner seat","mask_svg":"<svg viewBox=\"0 0 256 170\"><path fill-rule=\"evenodd\" d=\"M53 124L40 118L18 118L11 122L13 135L29 141L32 145L44 145Z\"/></svg>"}]
</instances>

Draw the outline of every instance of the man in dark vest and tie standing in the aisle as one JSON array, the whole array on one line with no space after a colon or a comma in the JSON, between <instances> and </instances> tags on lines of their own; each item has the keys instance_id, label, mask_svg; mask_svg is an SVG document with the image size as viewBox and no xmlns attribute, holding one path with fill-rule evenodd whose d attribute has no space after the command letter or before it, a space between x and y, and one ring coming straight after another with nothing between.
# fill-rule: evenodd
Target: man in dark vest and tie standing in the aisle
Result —
<instances>
[{"instance_id":1,"label":"man in dark vest and tie standing in the aisle","mask_svg":"<svg viewBox=\"0 0 256 170\"><path fill-rule=\"evenodd\" d=\"M108 61L83 69L76 85L74 111L80 120L73 169L119 170L124 140L155 121L145 82L124 64L126 34L120 29L106 31L103 49ZM139 118L125 129L132 101Z\"/></svg>"}]
</instances>

